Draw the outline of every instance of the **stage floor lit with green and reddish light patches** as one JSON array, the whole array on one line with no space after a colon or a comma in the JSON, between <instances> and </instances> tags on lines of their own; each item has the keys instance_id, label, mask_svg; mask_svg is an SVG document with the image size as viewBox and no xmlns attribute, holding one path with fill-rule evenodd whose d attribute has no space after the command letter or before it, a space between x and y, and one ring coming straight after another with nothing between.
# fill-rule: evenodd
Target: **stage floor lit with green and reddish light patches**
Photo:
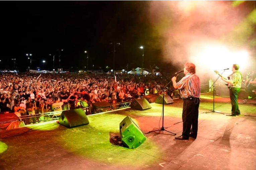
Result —
<instances>
[{"instance_id":1,"label":"stage floor lit with green and reddish light patches","mask_svg":"<svg viewBox=\"0 0 256 170\"><path fill-rule=\"evenodd\" d=\"M239 99L239 101L244 102ZM164 127L180 136L182 104L164 105ZM87 116L89 124L66 128L58 123L36 124L0 132L1 170L255 170L256 101L239 104L241 116L230 117L229 97L201 94L197 139L148 133L162 127L162 105ZM217 111L221 111L221 114ZM130 116L147 140L138 148L116 146L119 123Z\"/></svg>"}]
</instances>

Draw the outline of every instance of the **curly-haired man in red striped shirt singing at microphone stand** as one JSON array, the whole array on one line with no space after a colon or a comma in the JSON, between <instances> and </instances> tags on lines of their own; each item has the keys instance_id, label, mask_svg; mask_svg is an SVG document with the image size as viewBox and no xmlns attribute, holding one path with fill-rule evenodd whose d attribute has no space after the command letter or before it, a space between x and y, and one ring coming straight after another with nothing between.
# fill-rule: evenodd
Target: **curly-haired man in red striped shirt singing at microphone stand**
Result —
<instances>
[{"instance_id":1,"label":"curly-haired man in red striped shirt singing at microphone stand","mask_svg":"<svg viewBox=\"0 0 256 170\"><path fill-rule=\"evenodd\" d=\"M183 99L182 135L175 137L178 140L188 140L189 137L196 139L198 129L198 108L200 103L200 80L195 75L195 65L186 63L184 65L185 76L177 83L176 77L172 78L173 87L180 91ZM192 126L192 128L191 128Z\"/></svg>"}]
</instances>

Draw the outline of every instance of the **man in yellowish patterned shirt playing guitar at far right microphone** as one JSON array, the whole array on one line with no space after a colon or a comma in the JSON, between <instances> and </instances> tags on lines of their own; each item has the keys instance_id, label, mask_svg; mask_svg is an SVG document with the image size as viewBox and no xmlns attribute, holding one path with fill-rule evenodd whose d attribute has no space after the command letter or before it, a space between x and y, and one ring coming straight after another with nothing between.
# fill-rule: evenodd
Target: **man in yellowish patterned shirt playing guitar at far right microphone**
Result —
<instances>
[{"instance_id":1,"label":"man in yellowish patterned shirt playing guitar at far right microphone","mask_svg":"<svg viewBox=\"0 0 256 170\"><path fill-rule=\"evenodd\" d=\"M243 75L238 70L239 70L239 65L233 64L232 66L233 74L230 75L229 80L221 76L221 79L226 83L228 83L229 95L230 95L231 106L232 106L231 113L226 116L240 115L237 99L238 99L238 93L240 92L240 89L241 89L241 82L243 80Z\"/></svg>"}]
</instances>

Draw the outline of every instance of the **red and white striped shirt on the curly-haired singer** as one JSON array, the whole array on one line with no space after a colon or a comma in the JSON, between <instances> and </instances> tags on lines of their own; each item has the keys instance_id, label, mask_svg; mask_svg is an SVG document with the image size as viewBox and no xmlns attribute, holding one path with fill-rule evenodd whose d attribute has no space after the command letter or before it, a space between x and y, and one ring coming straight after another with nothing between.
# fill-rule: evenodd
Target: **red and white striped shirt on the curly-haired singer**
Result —
<instances>
[{"instance_id":1,"label":"red and white striped shirt on the curly-haired singer","mask_svg":"<svg viewBox=\"0 0 256 170\"><path fill-rule=\"evenodd\" d=\"M200 98L200 80L197 75L188 73L176 84L176 86L183 99L191 96Z\"/></svg>"}]
</instances>

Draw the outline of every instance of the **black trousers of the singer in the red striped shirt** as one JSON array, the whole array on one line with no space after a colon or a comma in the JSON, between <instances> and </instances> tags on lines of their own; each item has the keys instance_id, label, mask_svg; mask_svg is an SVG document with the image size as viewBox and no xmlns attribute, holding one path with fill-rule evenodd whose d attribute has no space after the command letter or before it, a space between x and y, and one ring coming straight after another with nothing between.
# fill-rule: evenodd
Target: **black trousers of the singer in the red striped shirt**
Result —
<instances>
[{"instance_id":1,"label":"black trousers of the singer in the red striped shirt","mask_svg":"<svg viewBox=\"0 0 256 170\"><path fill-rule=\"evenodd\" d=\"M200 103L199 98L189 97L187 99L183 99L182 136L184 136L185 138L189 138L190 132L193 137L195 138L197 137L199 103Z\"/></svg>"}]
</instances>

